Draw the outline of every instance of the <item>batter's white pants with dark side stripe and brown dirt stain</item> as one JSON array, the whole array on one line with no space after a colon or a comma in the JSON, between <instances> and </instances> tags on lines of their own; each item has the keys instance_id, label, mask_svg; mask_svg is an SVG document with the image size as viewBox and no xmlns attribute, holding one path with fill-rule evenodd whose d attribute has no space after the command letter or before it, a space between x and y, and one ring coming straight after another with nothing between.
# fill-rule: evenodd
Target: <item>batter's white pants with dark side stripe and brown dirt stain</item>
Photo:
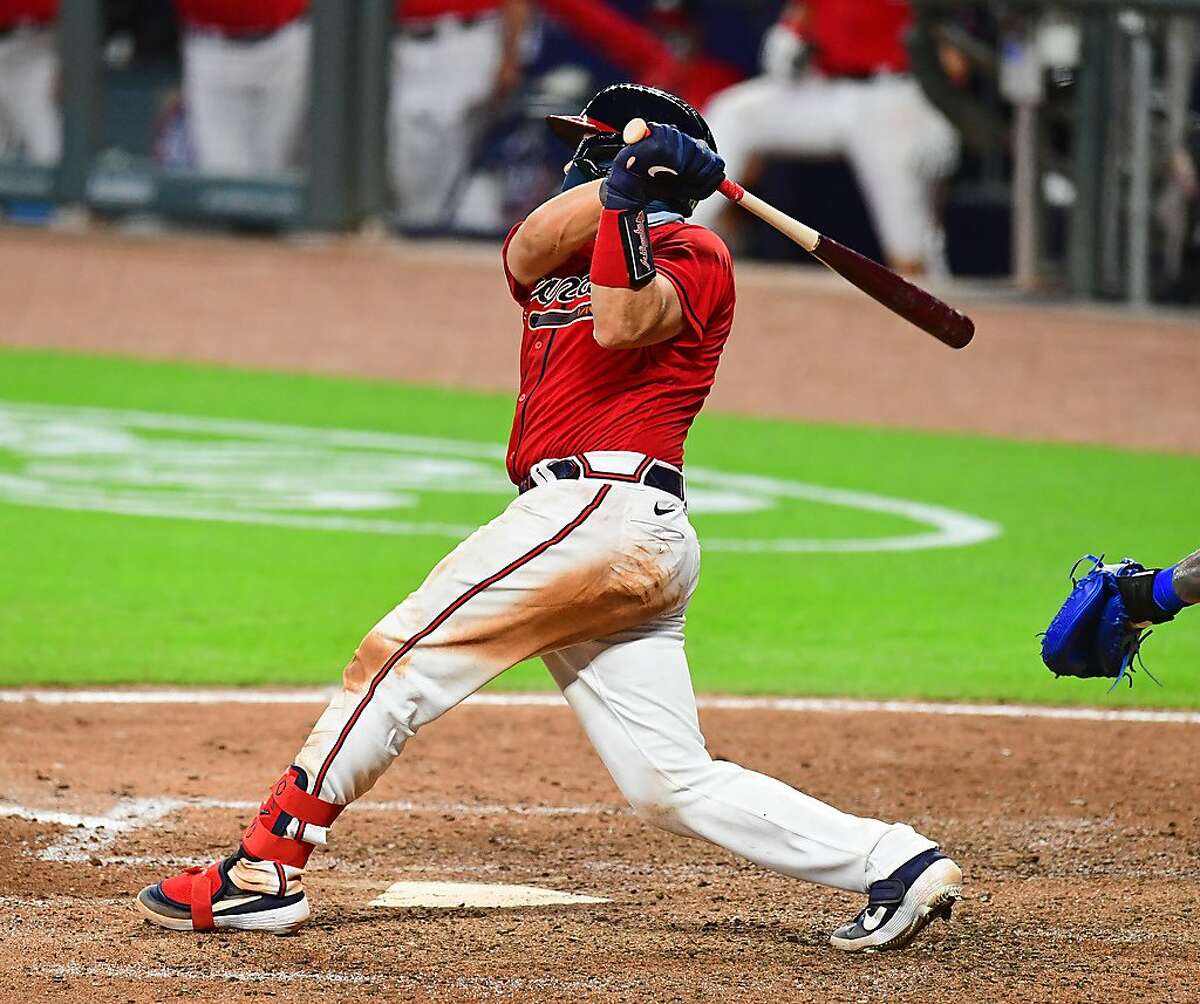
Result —
<instances>
[{"instance_id":1,"label":"batter's white pants with dark side stripe and brown dirt stain","mask_svg":"<svg viewBox=\"0 0 1200 1004\"><path fill-rule=\"evenodd\" d=\"M636 453L592 453L631 471ZM544 656L638 814L796 878L864 891L935 844L704 749L684 656L700 548L683 504L637 483L546 481L446 557L362 641L295 763L326 801L365 794L421 726ZM486 739L484 739L486 741ZM301 837L324 843L307 826Z\"/></svg>"}]
</instances>

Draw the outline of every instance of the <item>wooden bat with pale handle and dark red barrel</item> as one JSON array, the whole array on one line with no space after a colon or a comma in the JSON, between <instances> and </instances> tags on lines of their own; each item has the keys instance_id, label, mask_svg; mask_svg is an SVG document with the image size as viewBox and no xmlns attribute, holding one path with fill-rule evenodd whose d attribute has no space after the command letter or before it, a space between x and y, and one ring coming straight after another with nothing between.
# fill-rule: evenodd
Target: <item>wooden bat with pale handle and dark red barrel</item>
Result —
<instances>
[{"instance_id":1,"label":"wooden bat with pale handle and dark red barrel","mask_svg":"<svg viewBox=\"0 0 1200 1004\"><path fill-rule=\"evenodd\" d=\"M649 132L644 119L631 119L622 133L622 139L634 144L644 139ZM737 203L784 236L796 241L809 254L857 285L868 296L952 349L964 348L974 337L974 321L971 318L878 261L872 261L865 254L851 251L833 238L814 230L799 220L793 220L730 178L721 182L718 191L730 202Z\"/></svg>"}]
</instances>

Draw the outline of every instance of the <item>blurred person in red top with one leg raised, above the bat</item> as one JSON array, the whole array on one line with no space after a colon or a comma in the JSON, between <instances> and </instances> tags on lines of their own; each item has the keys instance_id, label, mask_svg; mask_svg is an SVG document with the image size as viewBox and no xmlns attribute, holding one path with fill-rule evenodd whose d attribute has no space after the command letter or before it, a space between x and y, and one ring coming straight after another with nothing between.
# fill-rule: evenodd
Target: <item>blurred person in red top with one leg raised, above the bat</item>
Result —
<instances>
[{"instance_id":1,"label":"blurred person in red top with one leg raised, above the bat","mask_svg":"<svg viewBox=\"0 0 1200 1004\"><path fill-rule=\"evenodd\" d=\"M744 180L757 156L846 157L888 264L941 272L937 192L959 140L908 74L911 19L902 0L792 2L763 41L762 76L704 114L730 178ZM718 226L726 209L709 199L694 222Z\"/></svg>"}]
</instances>

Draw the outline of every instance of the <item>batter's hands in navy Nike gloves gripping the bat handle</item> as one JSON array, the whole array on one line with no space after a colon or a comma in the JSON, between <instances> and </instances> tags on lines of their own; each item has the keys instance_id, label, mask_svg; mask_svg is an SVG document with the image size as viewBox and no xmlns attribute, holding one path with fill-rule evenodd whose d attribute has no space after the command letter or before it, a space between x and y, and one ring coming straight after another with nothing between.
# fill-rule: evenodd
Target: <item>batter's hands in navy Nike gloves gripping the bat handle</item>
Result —
<instances>
[{"instance_id":1,"label":"batter's hands in navy Nike gloves gripping the bat handle","mask_svg":"<svg viewBox=\"0 0 1200 1004\"><path fill-rule=\"evenodd\" d=\"M655 199L707 199L725 180L725 161L674 126L649 124L644 139L622 148L604 186L607 209L637 209Z\"/></svg>"}]
</instances>

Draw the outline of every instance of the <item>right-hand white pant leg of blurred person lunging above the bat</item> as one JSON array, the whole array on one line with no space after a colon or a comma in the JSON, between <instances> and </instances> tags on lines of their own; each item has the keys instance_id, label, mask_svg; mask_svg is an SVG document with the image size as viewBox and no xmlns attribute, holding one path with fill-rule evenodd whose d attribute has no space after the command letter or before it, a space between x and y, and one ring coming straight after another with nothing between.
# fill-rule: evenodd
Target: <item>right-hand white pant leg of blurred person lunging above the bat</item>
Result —
<instances>
[{"instance_id":1,"label":"right-hand white pant leg of blurred person lunging above the bat","mask_svg":"<svg viewBox=\"0 0 1200 1004\"><path fill-rule=\"evenodd\" d=\"M959 139L910 77L854 83L848 157L884 254L944 271L937 182L954 170Z\"/></svg>"}]
</instances>

